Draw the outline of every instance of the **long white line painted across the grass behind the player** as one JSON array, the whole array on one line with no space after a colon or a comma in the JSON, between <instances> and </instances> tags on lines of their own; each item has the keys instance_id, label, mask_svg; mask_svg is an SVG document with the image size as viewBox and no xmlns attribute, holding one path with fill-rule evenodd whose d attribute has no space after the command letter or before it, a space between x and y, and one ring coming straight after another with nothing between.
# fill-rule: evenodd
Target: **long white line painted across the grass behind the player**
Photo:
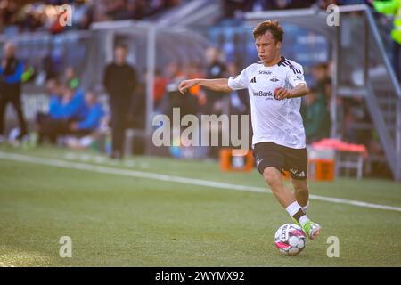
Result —
<instances>
[{"instance_id":1,"label":"long white line painted across the grass behind the player","mask_svg":"<svg viewBox=\"0 0 401 285\"><path fill-rule=\"evenodd\" d=\"M221 182L201 180L201 179L195 179L195 178L187 178L187 177L174 176L174 175L160 175L160 174L151 173L151 172L128 170L128 169L122 169L122 168L100 167L100 166L95 166L95 165L86 164L86 163L71 162L71 161L60 160L60 159L46 159L46 158L21 155L21 154L16 154L16 153L6 153L6 152L1 152L1 151L0 151L0 159L8 159L8 160L19 161L19 162L28 162L28 163L32 163L32 164L52 166L52 167L87 170L87 171L109 174L109 175L125 175L125 176L130 176L130 177L147 178L147 179L153 179L153 180L159 180L159 181L165 181L165 182L192 184L192 185L206 186L206 187L227 189L227 190L234 190L234 191L271 193L271 191L269 189L263 188L263 187L238 185L238 184L231 184L231 183L221 183ZM346 205L352 205L352 206L363 207L363 208L377 208L377 209L401 212L401 208L399 208L399 207L380 205L380 204L372 204L372 203L366 203L363 201L350 200L350 199L339 199L339 198L317 196L317 195L310 195L309 199L321 200L321 201L331 202L331 203L336 203L336 204L346 204Z\"/></svg>"}]
</instances>

